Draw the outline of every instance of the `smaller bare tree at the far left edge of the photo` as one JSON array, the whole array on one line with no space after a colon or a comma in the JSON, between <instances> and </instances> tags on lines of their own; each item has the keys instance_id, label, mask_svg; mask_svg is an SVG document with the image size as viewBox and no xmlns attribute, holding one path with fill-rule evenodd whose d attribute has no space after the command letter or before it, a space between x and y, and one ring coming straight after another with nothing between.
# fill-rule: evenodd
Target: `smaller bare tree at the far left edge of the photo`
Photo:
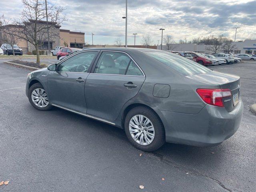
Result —
<instances>
[{"instance_id":1,"label":"smaller bare tree at the far left edge of the photo","mask_svg":"<svg viewBox=\"0 0 256 192\"><path fill-rule=\"evenodd\" d=\"M15 55L14 52L14 45L18 44L20 42L20 38L16 35L17 32L13 31L13 25L9 25L10 19L7 20L4 15L0 16L0 23L2 23L3 26L0 26L1 30L1 42L4 42L6 44L9 44L12 47L12 54ZM7 51L7 50L6 50ZM7 54L7 52L6 52Z\"/></svg>"}]
</instances>

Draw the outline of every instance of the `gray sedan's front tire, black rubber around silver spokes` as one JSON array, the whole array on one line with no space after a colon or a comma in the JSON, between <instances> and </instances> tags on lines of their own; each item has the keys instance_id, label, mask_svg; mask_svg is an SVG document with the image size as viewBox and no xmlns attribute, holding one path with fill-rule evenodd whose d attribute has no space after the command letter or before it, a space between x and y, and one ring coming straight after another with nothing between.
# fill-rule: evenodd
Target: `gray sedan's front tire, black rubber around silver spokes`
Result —
<instances>
[{"instance_id":1,"label":"gray sedan's front tire, black rubber around silver spokes","mask_svg":"<svg viewBox=\"0 0 256 192\"><path fill-rule=\"evenodd\" d=\"M42 110L42 111L51 110L51 109L52 109L52 105L51 105L51 102L48 100L48 97L47 97L46 92L45 92L45 96L46 96L46 97L41 97L41 98L42 98L42 99L41 99L41 100L42 100L41 103L43 103L43 104L45 104L44 101L46 101L46 98L47 98L48 104L47 104L46 106L44 106L43 104L42 104L42 105L39 104L39 106L38 106L38 105L36 105L36 104L33 102L32 93L33 93L34 91L35 91L34 93L37 93L37 92L36 92L37 89L39 89L39 90L44 90L44 87L43 87L40 83L36 83L36 84L33 84L33 85L29 88L29 90L28 90L28 100L29 100L30 104L31 104L34 108L36 108L37 110ZM45 90L44 90L44 91L45 91ZM36 96L34 93L33 93L33 96ZM43 99L43 98L44 98L44 99ZM39 103L40 103L40 102L39 102Z\"/></svg>"}]
</instances>

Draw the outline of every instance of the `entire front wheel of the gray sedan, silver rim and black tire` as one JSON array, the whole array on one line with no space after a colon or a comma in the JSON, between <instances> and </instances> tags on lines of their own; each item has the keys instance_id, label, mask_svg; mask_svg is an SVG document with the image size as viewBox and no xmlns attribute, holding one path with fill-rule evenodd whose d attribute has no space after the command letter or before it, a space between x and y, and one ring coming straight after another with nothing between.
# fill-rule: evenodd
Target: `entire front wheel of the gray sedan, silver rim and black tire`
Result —
<instances>
[{"instance_id":1,"label":"entire front wheel of the gray sedan, silver rim and black tire","mask_svg":"<svg viewBox=\"0 0 256 192\"><path fill-rule=\"evenodd\" d=\"M33 84L28 91L28 100L37 110L50 110L52 105L44 87L40 83Z\"/></svg>"}]
</instances>

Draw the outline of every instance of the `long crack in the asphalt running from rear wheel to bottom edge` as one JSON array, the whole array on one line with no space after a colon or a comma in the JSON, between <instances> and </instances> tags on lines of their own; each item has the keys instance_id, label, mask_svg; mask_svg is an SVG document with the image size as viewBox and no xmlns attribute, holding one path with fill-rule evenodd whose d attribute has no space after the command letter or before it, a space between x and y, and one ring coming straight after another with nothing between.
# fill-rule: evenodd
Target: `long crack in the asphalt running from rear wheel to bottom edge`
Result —
<instances>
[{"instance_id":1,"label":"long crack in the asphalt running from rear wheel to bottom edge","mask_svg":"<svg viewBox=\"0 0 256 192\"><path fill-rule=\"evenodd\" d=\"M219 186L221 186L221 187L224 188L225 190L227 190L227 191L229 191L229 192L232 192L231 189L227 188L227 187L226 187L221 181L219 181L218 179L211 178L210 176L207 176L207 175L205 175L205 174L202 174L202 173L200 173L200 172L198 172L198 171L196 171L196 170L193 170L193 171L192 171L192 170L190 169L190 171L187 171L187 170L188 170L187 167L182 166L182 165L179 165L179 164L177 164L177 163L175 163L175 162L172 162L172 161L170 161L170 160L167 160L166 158L164 158L163 155L161 155L161 154L159 154L159 153L152 152L152 153L146 153L146 154L147 154L147 156L148 156L149 158L152 158L152 159L154 159L154 160L160 160L161 162L164 162L165 164L168 164L168 165L170 165L170 166L172 166L172 167L174 167L174 168L178 168L178 169L180 169L180 170L182 170L182 171L184 171L184 172L186 172L186 173L188 173L188 174L192 174L192 175L194 175L194 176L203 176L203 177L206 177L206 178L208 178L208 179L210 179L210 180L213 180L214 182L216 182Z\"/></svg>"}]
</instances>

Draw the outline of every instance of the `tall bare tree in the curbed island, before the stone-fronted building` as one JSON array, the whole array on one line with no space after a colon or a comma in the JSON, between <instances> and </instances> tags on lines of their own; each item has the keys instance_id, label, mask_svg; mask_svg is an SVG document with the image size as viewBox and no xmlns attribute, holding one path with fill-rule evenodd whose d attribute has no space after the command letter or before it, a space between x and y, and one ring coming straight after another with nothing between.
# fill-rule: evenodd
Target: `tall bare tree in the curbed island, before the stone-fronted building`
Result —
<instances>
[{"instance_id":1,"label":"tall bare tree in the curbed island, before the stone-fronted building","mask_svg":"<svg viewBox=\"0 0 256 192\"><path fill-rule=\"evenodd\" d=\"M24 9L19 20L14 20L15 31L19 38L30 42L36 49L36 63L40 64L39 45L46 41L47 29L50 38L57 38L56 26L65 21L62 7L48 6L48 20L46 22L45 0L22 0Z\"/></svg>"}]
</instances>

